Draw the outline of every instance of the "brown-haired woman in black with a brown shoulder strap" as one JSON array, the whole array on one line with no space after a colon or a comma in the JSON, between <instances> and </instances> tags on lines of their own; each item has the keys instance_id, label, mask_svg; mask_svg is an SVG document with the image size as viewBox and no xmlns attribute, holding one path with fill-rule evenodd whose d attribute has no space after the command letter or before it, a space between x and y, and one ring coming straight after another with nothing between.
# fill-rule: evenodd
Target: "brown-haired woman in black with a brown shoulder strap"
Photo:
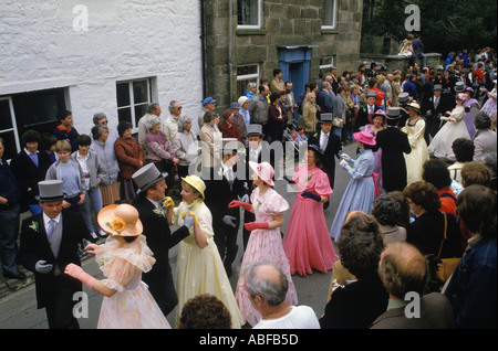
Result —
<instances>
[{"instance_id":1,"label":"brown-haired woman in black with a brown shoulder strap","mask_svg":"<svg viewBox=\"0 0 498 351\"><path fill-rule=\"evenodd\" d=\"M418 181L406 187L403 193L416 215L416 220L407 227L406 242L416 246L423 255L461 257L456 220L452 214L439 211L437 189L430 183Z\"/></svg>"}]
</instances>

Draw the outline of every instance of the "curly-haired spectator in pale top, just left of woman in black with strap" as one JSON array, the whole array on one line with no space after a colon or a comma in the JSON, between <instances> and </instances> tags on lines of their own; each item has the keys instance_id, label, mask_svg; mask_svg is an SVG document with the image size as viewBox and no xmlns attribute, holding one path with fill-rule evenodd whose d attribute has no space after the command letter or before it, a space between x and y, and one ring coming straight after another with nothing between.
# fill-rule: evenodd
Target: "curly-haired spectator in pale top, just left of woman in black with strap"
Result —
<instances>
[{"instance_id":1,"label":"curly-haired spectator in pale top, just left of woman in black with strap","mask_svg":"<svg viewBox=\"0 0 498 351\"><path fill-rule=\"evenodd\" d=\"M384 244L406 241L406 228L397 225L402 214L400 202L388 195L380 195L373 202L372 216L381 224Z\"/></svg>"}]
</instances>

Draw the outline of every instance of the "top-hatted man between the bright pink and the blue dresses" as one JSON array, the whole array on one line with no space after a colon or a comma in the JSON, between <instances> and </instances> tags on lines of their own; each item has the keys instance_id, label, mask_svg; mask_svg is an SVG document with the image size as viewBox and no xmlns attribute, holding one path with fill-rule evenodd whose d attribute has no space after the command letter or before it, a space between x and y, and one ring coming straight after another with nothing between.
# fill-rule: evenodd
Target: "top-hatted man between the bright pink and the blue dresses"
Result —
<instances>
[{"instance_id":1,"label":"top-hatted man between the bright pink and the blue dresses","mask_svg":"<svg viewBox=\"0 0 498 351\"><path fill-rule=\"evenodd\" d=\"M332 130L332 114L320 115L320 131L313 134L308 140L308 145L317 145L323 151L322 170L329 176L330 188L334 189L335 180L335 158L341 158L341 139ZM323 209L329 208L330 202L323 204Z\"/></svg>"}]
</instances>

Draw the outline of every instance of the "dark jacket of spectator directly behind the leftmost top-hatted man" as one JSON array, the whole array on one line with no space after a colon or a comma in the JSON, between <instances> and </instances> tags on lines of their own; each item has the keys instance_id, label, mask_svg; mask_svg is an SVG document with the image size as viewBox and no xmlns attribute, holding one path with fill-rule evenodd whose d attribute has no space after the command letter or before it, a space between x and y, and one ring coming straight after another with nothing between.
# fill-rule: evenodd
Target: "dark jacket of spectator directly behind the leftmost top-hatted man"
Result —
<instances>
[{"instance_id":1,"label":"dark jacket of spectator directly behind the leftmost top-hatted man","mask_svg":"<svg viewBox=\"0 0 498 351\"><path fill-rule=\"evenodd\" d=\"M38 167L34 166L24 150L15 155L10 162L10 169L18 181L19 189L21 190L22 205L24 206L38 204L38 201L34 199L38 195L38 183L45 180L45 174L52 164L52 159L45 151L40 150L38 152ZM29 188L31 188L30 191L28 191Z\"/></svg>"}]
</instances>

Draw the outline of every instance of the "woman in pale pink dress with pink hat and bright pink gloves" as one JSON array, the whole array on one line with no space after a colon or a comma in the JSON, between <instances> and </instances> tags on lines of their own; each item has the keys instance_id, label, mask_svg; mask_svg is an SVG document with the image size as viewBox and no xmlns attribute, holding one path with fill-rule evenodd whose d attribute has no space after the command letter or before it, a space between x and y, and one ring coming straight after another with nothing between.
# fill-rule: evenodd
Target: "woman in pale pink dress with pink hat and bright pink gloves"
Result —
<instances>
[{"instance_id":1,"label":"woman in pale pink dress with pink hat and bright pink gloves","mask_svg":"<svg viewBox=\"0 0 498 351\"><path fill-rule=\"evenodd\" d=\"M245 288L246 270L251 264L270 262L280 267L289 280L289 290L286 296L288 305L298 305L298 292L292 283L289 260L283 251L280 235L283 213L289 210L289 204L271 188L274 185L272 180L274 173L270 163L258 164L250 161L249 166L253 170L253 184L257 185L251 194L251 203L234 200L228 206L241 206L256 214L256 222L245 224L246 228L252 232L243 254L236 290L236 299L242 318L249 325L255 326L261 319L261 315L252 306L250 296Z\"/></svg>"}]
</instances>

